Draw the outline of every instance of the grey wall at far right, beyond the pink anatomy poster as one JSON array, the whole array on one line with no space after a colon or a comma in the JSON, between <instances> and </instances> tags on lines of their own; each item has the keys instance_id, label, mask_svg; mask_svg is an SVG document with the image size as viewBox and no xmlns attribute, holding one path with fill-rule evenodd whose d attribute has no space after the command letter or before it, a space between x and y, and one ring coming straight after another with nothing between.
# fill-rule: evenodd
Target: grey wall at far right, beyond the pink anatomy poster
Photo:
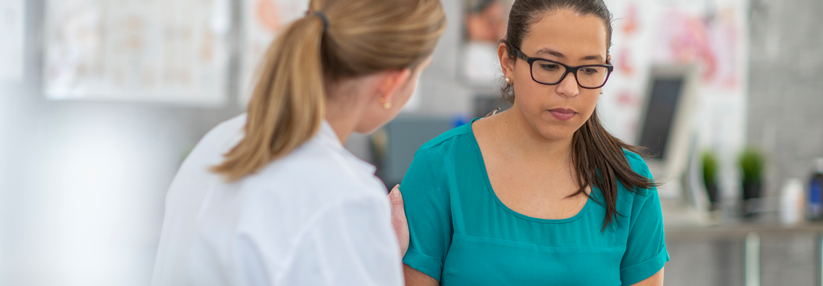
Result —
<instances>
[{"instance_id":1,"label":"grey wall at far right, beyond the pink anatomy poster","mask_svg":"<svg viewBox=\"0 0 823 286\"><path fill-rule=\"evenodd\" d=\"M747 139L766 150L767 191L777 195L823 157L823 1L751 6Z\"/></svg>"}]
</instances>

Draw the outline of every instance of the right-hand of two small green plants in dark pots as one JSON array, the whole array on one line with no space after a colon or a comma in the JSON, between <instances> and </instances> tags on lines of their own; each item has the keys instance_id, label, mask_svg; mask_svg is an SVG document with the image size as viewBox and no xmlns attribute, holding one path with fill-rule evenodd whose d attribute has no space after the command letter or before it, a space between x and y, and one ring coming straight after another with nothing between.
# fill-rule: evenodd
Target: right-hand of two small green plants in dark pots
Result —
<instances>
[{"instance_id":1,"label":"right-hand of two small green plants in dark pots","mask_svg":"<svg viewBox=\"0 0 823 286\"><path fill-rule=\"evenodd\" d=\"M765 156L754 147L747 147L740 153L738 162L742 172L741 187L743 187L743 213L752 215L758 209L757 202L762 196L763 167L765 166Z\"/></svg>"}]
</instances>

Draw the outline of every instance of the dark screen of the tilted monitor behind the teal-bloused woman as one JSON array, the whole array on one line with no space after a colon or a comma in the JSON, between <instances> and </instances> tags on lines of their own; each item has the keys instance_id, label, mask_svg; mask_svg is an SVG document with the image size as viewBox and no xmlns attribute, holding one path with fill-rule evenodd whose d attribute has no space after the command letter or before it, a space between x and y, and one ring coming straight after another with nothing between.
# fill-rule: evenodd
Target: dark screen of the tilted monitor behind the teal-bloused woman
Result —
<instances>
[{"instance_id":1,"label":"dark screen of the tilted monitor behind the teal-bloused woman","mask_svg":"<svg viewBox=\"0 0 823 286\"><path fill-rule=\"evenodd\" d=\"M648 148L647 154L665 160L666 144L671 134L684 79L666 77L653 80L646 106L646 119L640 135L640 146Z\"/></svg>"}]
</instances>

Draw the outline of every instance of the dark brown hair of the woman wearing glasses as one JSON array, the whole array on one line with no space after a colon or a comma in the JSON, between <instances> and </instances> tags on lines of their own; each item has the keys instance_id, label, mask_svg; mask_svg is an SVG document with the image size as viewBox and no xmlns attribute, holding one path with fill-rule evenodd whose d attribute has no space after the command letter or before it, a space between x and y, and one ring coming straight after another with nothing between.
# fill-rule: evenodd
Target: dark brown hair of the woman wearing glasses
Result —
<instances>
[{"instance_id":1,"label":"dark brown hair of the woman wearing glasses","mask_svg":"<svg viewBox=\"0 0 823 286\"><path fill-rule=\"evenodd\" d=\"M515 0L509 13L506 38L501 42L507 46L509 58L514 62L517 54L508 47L520 47L532 24L546 12L569 9L579 15L594 15L606 26L606 53L611 47L612 15L603 0ZM503 87L503 98L514 102L514 87ZM579 189L570 197L586 194L586 188L594 185L603 194L606 207L603 229L616 219L618 182L631 192L650 189L655 186L651 178L646 178L632 170L623 150L643 154L643 148L629 145L609 134L597 118L597 109L572 137L572 164L577 173Z\"/></svg>"}]
</instances>

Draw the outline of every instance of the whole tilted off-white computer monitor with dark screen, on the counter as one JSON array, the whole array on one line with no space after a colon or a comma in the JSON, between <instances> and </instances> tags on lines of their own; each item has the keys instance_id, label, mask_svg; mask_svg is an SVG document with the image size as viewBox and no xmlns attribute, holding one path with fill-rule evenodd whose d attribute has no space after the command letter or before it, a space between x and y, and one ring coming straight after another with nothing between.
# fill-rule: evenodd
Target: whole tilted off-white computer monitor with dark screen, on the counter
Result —
<instances>
[{"instance_id":1,"label":"whole tilted off-white computer monitor with dark screen, on the counter","mask_svg":"<svg viewBox=\"0 0 823 286\"><path fill-rule=\"evenodd\" d=\"M689 145L699 75L693 65L656 65L649 73L637 145L646 158L661 198L683 198L681 178L689 163Z\"/></svg>"}]
</instances>

